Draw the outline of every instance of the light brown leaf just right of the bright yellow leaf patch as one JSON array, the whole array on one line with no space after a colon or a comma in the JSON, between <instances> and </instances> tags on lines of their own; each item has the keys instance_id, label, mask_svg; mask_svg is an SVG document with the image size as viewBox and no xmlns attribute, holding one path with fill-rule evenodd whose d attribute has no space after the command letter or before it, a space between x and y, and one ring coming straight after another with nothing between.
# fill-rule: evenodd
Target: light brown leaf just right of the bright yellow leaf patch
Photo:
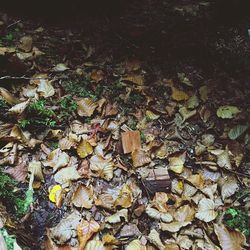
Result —
<instances>
[{"instance_id":1,"label":"light brown leaf just right of the bright yellow leaf patch","mask_svg":"<svg viewBox=\"0 0 250 250\"><path fill-rule=\"evenodd\" d=\"M94 192L92 186L86 187L84 185L79 185L72 197L72 203L76 207L89 209L93 204L93 195Z\"/></svg>"}]
</instances>

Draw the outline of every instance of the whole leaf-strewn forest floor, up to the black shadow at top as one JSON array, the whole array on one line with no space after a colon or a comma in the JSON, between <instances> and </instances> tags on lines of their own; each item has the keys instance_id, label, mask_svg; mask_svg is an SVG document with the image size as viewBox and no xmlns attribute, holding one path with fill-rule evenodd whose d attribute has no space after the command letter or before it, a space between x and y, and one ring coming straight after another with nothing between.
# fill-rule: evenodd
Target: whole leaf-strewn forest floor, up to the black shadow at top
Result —
<instances>
[{"instance_id":1,"label":"whole leaf-strewn forest floor, up to the black shadow at top","mask_svg":"<svg viewBox=\"0 0 250 250\"><path fill-rule=\"evenodd\" d=\"M249 247L248 37L1 20L1 250Z\"/></svg>"}]
</instances>

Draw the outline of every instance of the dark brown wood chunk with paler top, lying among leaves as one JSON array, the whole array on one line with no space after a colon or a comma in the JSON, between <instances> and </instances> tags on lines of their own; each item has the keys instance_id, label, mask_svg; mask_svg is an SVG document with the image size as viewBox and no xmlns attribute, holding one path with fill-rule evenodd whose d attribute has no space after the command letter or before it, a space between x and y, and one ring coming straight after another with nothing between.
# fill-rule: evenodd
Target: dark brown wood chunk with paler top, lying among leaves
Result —
<instances>
[{"instance_id":1,"label":"dark brown wood chunk with paler top, lying among leaves","mask_svg":"<svg viewBox=\"0 0 250 250\"><path fill-rule=\"evenodd\" d=\"M151 169L149 175L143 180L150 193L167 192L171 187L171 180L167 168Z\"/></svg>"}]
</instances>

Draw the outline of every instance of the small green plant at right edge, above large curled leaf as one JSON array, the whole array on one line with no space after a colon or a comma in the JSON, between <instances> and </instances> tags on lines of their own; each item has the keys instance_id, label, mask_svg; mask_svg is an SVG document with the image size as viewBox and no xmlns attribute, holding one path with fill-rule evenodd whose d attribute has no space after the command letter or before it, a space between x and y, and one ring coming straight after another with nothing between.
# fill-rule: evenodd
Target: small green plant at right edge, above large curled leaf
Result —
<instances>
[{"instance_id":1,"label":"small green plant at right edge, above large curled leaf","mask_svg":"<svg viewBox=\"0 0 250 250\"><path fill-rule=\"evenodd\" d=\"M250 236L250 220L246 211L229 208L225 212L224 222L232 229L239 229L246 237Z\"/></svg>"}]
</instances>

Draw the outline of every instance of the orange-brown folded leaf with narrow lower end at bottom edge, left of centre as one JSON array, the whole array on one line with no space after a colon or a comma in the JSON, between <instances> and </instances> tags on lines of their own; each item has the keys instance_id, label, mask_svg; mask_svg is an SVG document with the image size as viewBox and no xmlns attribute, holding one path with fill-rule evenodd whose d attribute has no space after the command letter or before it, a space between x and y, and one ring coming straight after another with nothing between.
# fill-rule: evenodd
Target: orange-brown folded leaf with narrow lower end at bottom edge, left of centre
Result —
<instances>
[{"instance_id":1,"label":"orange-brown folded leaf with narrow lower end at bottom edge, left of centre","mask_svg":"<svg viewBox=\"0 0 250 250\"><path fill-rule=\"evenodd\" d=\"M77 226L77 235L80 241L79 249L85 249L88 240L99 230L100 225L95 220L82 220Z\"/></svg>"}]
</instances>

